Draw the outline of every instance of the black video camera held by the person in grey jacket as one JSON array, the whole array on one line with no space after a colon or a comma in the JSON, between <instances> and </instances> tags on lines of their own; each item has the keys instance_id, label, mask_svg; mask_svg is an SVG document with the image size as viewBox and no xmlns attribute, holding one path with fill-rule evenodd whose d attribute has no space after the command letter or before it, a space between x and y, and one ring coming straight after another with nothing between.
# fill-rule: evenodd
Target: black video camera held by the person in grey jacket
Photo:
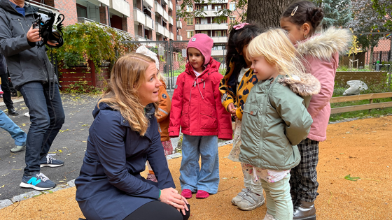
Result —
<instances>
[{"instance_id":1,"label":"black video camera held by the person in grey jacket","mask_svg":"<svg viewBox=\"0 0 392 220\"><path fill-rule=\"evenodd\" d=\"M64 44L63 41L63 24L64 15L59 14L56 20L56 29L53 29L53 25L55 24L55 13L48 13L48 15L43 13L35 13L34 18L36 19L33 22L33 28L39 29L39 36L41 36L43 43L39 44L38 47L42 47L43 45L48 45L49 47L61 47ZM56 46L52 46L48 44L50 43L58 43Z\"/></svg>"}]
</instances>

